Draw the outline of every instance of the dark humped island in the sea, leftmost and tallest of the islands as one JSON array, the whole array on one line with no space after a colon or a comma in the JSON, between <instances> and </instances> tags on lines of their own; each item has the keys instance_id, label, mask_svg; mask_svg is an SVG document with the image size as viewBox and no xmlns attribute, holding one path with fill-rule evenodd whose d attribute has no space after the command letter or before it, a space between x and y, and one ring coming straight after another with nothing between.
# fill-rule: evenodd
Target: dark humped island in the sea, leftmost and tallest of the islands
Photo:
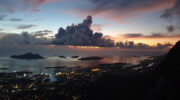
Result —
<instances>
[{"instance_id":1,"label":"dark humped island in the sea, leftmost and tallest of the islands","mask_svg":"<svg viewBox=\"0 0 180 100\"><path fill-rule=\"evenodd\" d=\"M44 59L44 57L38 55L38 54L33 54L33 53L26 53L22 55L12 55L10 56L11 58L15 59L27 59L27 60L32 60L32 59Z\"/></svg>"}]
</instances>

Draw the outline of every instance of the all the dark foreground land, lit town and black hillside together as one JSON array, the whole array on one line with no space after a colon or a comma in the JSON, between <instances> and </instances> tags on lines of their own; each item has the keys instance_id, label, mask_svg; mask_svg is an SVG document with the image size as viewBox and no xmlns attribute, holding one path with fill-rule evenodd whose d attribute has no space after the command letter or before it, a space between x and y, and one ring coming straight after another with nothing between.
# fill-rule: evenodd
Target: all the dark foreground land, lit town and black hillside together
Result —
<instances>
[{"instance_id":1,"label":"all the dark foreground land, lit town and black hillside together","mask_svg":"<svg viewBox=\"0 0 180 100\"><path fill-rule=\"evenodd\" d=\"M0 74L0 100L179 100L180 42L166 56L139 65L101 64L96 67L31 75Z\"/></svg>"}]
</instances>

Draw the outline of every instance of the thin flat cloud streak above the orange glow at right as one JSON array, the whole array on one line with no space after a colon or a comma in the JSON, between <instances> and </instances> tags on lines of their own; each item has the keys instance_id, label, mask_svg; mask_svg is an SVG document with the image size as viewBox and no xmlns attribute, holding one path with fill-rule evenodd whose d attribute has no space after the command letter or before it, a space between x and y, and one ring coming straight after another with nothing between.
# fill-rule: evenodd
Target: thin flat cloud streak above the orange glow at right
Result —
<instances>
[{"instance_id":1,"label":"thin flat cloud streak above the orange glow at right","mask_svg":"<svg viewBox=\"0 0 180 100\"><path fill-rule=\"evenodd\" d=\"M180 38L180 34L163 34L163 33L152 33L150 35L144 35L142 33L128 33L120 35L125 38Z\"/></svg>"}]
</instances>

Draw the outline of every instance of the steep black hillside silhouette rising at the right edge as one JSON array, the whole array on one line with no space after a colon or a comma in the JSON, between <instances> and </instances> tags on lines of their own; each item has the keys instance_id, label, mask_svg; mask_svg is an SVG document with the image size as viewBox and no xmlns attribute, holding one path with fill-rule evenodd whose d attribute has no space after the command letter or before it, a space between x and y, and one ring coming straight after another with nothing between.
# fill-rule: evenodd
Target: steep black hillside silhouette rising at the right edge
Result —
<instances>
[{"instance_id":1,"label":"steep black hillside silhouette rising at the right edge","mask_svg":"<svg viewBox=\"0 0 180 100\"><path fill-rule=\"evenodd\" d=\"M180 99L180 41L156 69L157 82L148 100Z\"/></svg>"}]
</instances>

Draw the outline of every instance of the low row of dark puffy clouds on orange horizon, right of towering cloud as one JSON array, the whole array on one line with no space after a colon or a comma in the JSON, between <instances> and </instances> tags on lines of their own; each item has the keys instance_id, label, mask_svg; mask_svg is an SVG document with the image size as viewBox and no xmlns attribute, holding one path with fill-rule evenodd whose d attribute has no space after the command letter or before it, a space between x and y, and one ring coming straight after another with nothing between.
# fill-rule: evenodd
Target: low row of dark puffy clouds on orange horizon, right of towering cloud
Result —
<instances>
[{"instance_id":1,"label":"low row of dark puffy clouds on orange horizon, right of towering cloud","mask_svg":"<svg viewBox=\"0 0 180 100\"><path fill-rule=\"evenodd\" d=\"M125 41L125 42L117 42L116 47L119 48L138 48L138 49L164 49L164 48L169 48L173 46L171 43L157 43L156 46L150 46L148 44L144 43L137 43L135 44L134 41Z\"/></svg>"}]
</instances>

